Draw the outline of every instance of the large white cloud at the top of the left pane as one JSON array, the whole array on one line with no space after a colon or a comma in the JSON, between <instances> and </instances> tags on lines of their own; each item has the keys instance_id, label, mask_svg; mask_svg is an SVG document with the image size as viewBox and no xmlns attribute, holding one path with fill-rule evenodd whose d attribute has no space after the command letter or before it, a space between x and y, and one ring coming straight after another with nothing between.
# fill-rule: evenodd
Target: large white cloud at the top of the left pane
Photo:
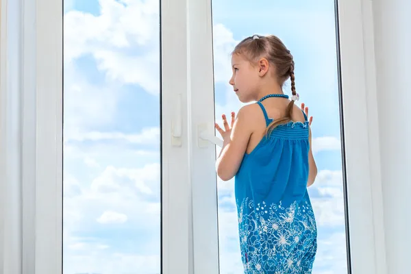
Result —
<instances>
[{"instance_id":1,"label":"large white cloud at the top of the left pane","mask_svg":"<svg viewBox=\"0 0 411 274\"><path fill-rule=\"evenodd\" d=\"M92 55L108 79L158 95L158 1L100 0L99 5L98 16L78 11L64 16L64 62Z\"/></svg>"}]
</instances>

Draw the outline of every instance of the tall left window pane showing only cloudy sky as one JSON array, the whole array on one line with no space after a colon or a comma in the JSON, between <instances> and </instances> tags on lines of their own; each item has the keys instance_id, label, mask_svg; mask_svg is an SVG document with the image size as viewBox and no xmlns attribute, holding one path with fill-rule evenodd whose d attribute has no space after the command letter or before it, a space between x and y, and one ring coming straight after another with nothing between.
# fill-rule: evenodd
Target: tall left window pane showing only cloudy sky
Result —
<instances>
[{"instance_id":1,"label":"tall left window pane showing only cloudy sky","mask_svg":"<svg viewBox=\"0 0 411 274\"><path fill-rule=\"evenodd\" d=\"M159 8L64 1L64 274L160 273Z\"/></svg>"}]
</instances>

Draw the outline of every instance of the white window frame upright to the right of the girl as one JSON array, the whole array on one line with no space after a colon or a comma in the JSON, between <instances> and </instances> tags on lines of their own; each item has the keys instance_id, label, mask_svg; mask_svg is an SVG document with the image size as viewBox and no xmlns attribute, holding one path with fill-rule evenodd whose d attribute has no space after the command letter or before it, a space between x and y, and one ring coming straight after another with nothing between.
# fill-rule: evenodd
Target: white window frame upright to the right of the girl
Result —
<instances>
[{"instance_id":1,"label":"white window frame upright to the right of the girl","mask_svg":"<svg viewBox=\"0 0 411 274\"><path fill-rule=\"evenodd\" d=\"M352 273L386 273L372 2L339 0Z\"/></svg>"}]
</instances>

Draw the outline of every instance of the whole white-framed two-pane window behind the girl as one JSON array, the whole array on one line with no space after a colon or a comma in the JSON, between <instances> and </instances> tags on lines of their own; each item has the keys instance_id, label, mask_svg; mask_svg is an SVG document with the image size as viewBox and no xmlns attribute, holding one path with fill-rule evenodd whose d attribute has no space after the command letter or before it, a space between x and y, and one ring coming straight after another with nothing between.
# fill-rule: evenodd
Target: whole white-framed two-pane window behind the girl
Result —
<instances>
[{"instance_id":1,"label":"whole white-framed two-pane window behind the girl","mask_svg":"<svg viewBox=\"0 0 411 274\"><path fill-rule=\"evenodd\" d=\"M382 201L371 185L373 117L361 103L364 90L373 92L363 34L370 7L336 1L334 26L328 0L299 5L284 27L275 21L293 7L286 1L258 4L269 27L240 27L223 12L234 7L240 17L241 9L258 8L246 5L1 1L0 183L7 203L0 234L12 251L0 254L5 273L238 273L233 186L216 179L214 121L240 107L226 91L228 53L255 32L275 32L290 47L297 90L314 115L323 170L310 189L319 218L316 271L376 273L375 258L385 252L376 248L384 237L375 210ZM321 73L308 67L314 59ZM318 92L321 110L312 99ZM335 185L325 184L334 177Z\"/></svg>"}]
</instances>

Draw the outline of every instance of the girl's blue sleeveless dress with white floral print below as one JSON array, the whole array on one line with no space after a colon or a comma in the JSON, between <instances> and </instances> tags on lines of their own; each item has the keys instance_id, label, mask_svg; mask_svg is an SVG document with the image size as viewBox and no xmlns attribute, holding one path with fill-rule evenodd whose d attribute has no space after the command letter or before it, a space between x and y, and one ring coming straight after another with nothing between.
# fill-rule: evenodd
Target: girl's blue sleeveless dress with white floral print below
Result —
<instances>
[{"instance_id":1,"label":"girl's blue sleeveless dress with white floral print below","mask_svg":"<svg viewBox=\"0 0 411 274\"><path fill-rule=\"evenodd\" d=\"M266 125L273 122L260 101ZM316 222L307 192L309 126L279 125L246 153L235 178L238 229L246 274L309 274Z\"/></svg>"}]
</instances>

